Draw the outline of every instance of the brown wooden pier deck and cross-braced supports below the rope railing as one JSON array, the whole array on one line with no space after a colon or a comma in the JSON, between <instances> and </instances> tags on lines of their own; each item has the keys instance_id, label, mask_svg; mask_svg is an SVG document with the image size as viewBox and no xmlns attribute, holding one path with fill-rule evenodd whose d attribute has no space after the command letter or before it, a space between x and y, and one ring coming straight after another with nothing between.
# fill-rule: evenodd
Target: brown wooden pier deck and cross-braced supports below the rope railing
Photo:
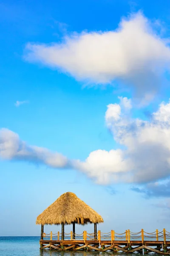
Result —
<instances>
[{"instance_id":1,"label":"brown wooden pier deck and cross-braced supports below the rope railing","mask_svg":"<svg viewBox=\"0 0 170 256\"><path fill-rule=\"evenodd\" d=\"M170 255L170 241L98 241L98 240L40 240L40 249L50 250L94 250L113 253L158 253Z\"/></svg>"}]
</instances>

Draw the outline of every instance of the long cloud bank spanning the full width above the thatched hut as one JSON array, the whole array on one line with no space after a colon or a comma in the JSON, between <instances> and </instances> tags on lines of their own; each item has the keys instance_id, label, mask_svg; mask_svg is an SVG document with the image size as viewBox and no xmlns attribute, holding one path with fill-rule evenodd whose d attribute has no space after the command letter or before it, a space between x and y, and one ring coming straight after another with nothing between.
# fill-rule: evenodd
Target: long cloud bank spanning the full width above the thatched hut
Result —
<instances>
[{"instance_id":1,"label":"long cloud bank spanning the full width above the thatched hut","mask_svg":"<svg viewBox=\"0 0 170 256\"><path fill-rule=\"evenodd\" d=\"M99 184L154 183L170 177L170 102L162 102L150 120L143 121L131 118L130 99L119 99L119 104L108 105L105 122L114 140L125 149L99 149L81 162L47 148L27 145L18 134L1 129L0 157L76 169Z\"/></svg>"}]
</instances>

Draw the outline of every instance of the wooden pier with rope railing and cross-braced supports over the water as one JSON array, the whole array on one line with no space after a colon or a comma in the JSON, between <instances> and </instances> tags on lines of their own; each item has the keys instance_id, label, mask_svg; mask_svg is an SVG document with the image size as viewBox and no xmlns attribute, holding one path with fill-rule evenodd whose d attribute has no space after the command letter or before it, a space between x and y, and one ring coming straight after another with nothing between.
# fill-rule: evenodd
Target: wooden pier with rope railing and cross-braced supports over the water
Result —
<instances>
[{"instance_id":1,"label":"wooden pier with rope railing and cross-braced supports over the water","mask_svg":"<svg viewBox=\"0 0 170 256\"><path fill-rule=\"evenodd\" d=\"M138 233L126 230L121 234L114 230L111 230L110 233L102 233L99 230L96 234L84 231L82 234L75 234L75 239L71 232L65 233L65 240L60 238L61 233L59 232L56 234L43 233L40 249L170 254L170 233L165 229L161 232L156 230L153 233L146 233L143 229Z\"/></svg>"}]
</instances>

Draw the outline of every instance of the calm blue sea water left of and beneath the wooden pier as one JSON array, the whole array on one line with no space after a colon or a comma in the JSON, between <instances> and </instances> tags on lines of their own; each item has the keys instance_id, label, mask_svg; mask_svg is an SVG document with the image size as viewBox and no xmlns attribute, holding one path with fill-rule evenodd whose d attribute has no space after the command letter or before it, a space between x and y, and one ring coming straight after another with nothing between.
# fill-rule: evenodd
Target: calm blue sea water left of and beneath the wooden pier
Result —
<instances>
[{"instance_id":1,"label":"calm blue sea water left of and beneath the wooden pier","mask_svg":"<svg viewBox=\"0 0 170 256\"><path fill-rule=\"evenodd\" d=\"M40 250L40 237L38 236L17 236L0 237L0 256L106 256L113 255L112 252L57 252L52 250ZM116 255L116 254L114 254ZM118 254L117 254L118 255ZM119 253L119 256L127 254Z\"/></svg>"}]
</instances>

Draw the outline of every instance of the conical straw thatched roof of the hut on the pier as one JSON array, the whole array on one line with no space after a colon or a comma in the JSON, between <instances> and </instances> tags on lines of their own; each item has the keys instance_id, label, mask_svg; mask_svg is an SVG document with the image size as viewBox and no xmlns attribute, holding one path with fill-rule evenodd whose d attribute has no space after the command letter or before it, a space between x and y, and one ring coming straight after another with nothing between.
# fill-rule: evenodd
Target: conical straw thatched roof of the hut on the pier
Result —
<instances>
[{"instance_id":1,"label":"conical straw thatched roof of the hut on the pier","mask_svg":"<svg viewBox=\"0 0 170 256\"><path fill-rule=\"evenodd\" d=\"M103 222L102 217L72 192L62 194L38 215L36 224L87 224Z\"/></svg>"}]
</instances>

